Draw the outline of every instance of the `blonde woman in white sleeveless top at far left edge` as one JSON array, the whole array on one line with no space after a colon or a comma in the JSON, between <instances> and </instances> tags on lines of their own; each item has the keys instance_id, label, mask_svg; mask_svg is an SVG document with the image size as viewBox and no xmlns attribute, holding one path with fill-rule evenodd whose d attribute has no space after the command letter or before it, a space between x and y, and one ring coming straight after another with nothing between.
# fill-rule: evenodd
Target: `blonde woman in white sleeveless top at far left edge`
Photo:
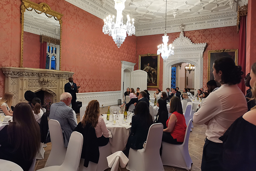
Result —
<instances>
[{"instance_id":1,"label":"blonde woman in white sleeveless top at far left edge","mask_svg":"<svg viewBox=\"0 0 256 171\"><path fill-rule=\"evenodd\" d=\"M13 94L6 92L0 100L0 115L12 116L13 111L11 110Z\"/></svg>"}]
</instances>

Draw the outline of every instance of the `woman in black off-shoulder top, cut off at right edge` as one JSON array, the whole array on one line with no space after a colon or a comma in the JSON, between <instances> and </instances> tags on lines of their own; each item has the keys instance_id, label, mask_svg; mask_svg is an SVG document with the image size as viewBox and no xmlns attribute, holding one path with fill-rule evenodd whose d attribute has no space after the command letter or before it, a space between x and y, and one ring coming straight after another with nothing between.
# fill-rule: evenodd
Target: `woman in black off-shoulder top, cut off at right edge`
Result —
<instances>
[{"instance_id":1,"label":"woman in black off-shoulder top, cut off at right edge","mask_svg":"<svg viewBox=\"0 0 256 171\"><path fill-rule=\"evenodd\" d=\"M256 63L251 69L252 99L256 99ZM256 106L236 119L219 140L223 141L221 164L225 171L256 168Z\"/></svg>"}]
</instances>

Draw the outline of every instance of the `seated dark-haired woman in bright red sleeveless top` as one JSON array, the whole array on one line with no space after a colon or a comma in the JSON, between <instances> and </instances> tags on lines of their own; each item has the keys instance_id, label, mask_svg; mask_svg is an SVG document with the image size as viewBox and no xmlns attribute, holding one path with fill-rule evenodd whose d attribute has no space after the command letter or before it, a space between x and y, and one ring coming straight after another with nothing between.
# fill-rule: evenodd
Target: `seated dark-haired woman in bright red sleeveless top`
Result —
<instances>
[{"instance_id":1,"label":"seated dark-haired woman in bright red sleeveless top","mask_svg":"<svg viewBox=\"0 0 256 171\"><path fill-rule=\"evenodd\" d=\"M180 99L175 96L170 100L170 111L172 113L163 129L162 141L170 144L182 144L184 141L187 125L182 111Z\"/></svg>"}]
</instances>

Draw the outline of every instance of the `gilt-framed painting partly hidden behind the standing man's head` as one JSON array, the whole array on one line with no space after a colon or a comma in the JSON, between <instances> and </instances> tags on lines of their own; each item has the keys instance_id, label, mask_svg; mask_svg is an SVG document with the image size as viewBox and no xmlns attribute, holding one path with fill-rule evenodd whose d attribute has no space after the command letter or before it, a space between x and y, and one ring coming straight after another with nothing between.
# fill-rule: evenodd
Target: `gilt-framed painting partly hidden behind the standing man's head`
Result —
<instances>
[{"instance_id":1,"label":"gilt-framed painting partly hidden behind the standing man's head","mask_svg":"<svg viewBox=\"0 0 256 171\"><path fill-rule=\"evenodd\" d=\"M208 81L214 80L212 65L215 60L222 57L230 57L237 65L237 53L238 49L208 50Z\"/></svg>"}]
</instances>

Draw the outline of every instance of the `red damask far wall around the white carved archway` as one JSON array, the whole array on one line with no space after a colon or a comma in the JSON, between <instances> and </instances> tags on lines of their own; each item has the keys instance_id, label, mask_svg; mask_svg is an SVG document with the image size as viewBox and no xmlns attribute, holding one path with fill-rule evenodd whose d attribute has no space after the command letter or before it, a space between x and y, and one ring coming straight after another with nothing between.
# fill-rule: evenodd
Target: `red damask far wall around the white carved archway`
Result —
<instances>
[{"instance_id":1,"label":"red damask far wall around the white carved archway","mask_svg":"<svg viewBox=\"0 0 256 171\"><path fill-rule=\"evenodd\" d=\"M169 33L169 43L179 37L180 33ZM236 33L236 26L210 28L203 30L185 31L184 35L191 39L193 43L207 43L206 50L203 57L203 87L206 89L207 83L207 67L208 67L208 50L218 49L238 49L239 34ZM163 34L148 35L137 37L136 56L139 62L140 54L157 53L157 45L162 44ZM175 47L174 47L175 48ZM238 49L239 50L239 49ZM159 73L159 88L162 91L163 86L163 60L160 55L160 73ZM166 87L167 88L167 87ZM148 88L148 90L155 90L156 88Z\"/></svg>"}]
</instances>

